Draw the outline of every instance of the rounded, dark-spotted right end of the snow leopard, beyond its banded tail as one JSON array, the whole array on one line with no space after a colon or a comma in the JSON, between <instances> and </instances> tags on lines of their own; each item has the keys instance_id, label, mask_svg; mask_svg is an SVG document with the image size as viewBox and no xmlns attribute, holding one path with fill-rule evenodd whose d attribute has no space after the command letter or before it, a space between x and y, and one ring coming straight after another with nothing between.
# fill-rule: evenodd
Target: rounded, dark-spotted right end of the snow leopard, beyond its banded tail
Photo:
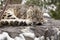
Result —
<instances>
[{"instance_id":1,"label":"rounded, dark-spotted right end of the snow leopard, beyond its banded tail","mask_svg":"<svg viewBox=\"0 0 60 40\"><path fill-rule=\"evenodd\" d=\"M27 10L27 19L30 19L32 22L36 24L43 24L44 17L41 9L38 6L30 6Z\"/></svg>"}]
</instances>

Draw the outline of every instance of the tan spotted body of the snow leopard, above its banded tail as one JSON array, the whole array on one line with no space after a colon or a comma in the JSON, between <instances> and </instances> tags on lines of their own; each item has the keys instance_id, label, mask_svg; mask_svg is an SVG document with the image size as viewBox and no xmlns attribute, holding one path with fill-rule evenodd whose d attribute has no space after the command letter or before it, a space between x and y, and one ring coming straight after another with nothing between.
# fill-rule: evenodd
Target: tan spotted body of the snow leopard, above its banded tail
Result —
<instances>
[{"instance_id":1,"label":"tan spotted body of the snow leopard, above its banded tail","mask_svg":"<svg viewBox=\"0 0 60 40\"><path fill-rule=\"evenodd\" d=\"M38 6L9 8L4 12L2 19L28 19L28 21L35 22L36 24L43 24L44 22L43 13Z\"/></svg>"}]
</instances>

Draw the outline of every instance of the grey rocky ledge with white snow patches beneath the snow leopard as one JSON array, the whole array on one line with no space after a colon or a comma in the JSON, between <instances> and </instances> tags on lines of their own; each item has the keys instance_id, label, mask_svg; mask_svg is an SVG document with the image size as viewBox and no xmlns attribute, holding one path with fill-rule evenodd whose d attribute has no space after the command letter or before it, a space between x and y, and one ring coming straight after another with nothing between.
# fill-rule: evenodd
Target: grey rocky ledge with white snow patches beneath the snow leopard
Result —
<instances>
[{"instance_id":1,"label":"grey rocky ledge with white snow patches beneath the snow leopard","mask_svg":"<svg viewBox=\"0 0 60 40\"><path fill-rule=\"evenodd\" d=\"M3 34L3 32L7 32L9 36L12 37L14 40L20 39L20 34L23 34L25 40L60 40L60 20L47 20L48 21L46 23L40 26L36 25L1 27L0 34Z\"/></svg>"}]
</instances>

